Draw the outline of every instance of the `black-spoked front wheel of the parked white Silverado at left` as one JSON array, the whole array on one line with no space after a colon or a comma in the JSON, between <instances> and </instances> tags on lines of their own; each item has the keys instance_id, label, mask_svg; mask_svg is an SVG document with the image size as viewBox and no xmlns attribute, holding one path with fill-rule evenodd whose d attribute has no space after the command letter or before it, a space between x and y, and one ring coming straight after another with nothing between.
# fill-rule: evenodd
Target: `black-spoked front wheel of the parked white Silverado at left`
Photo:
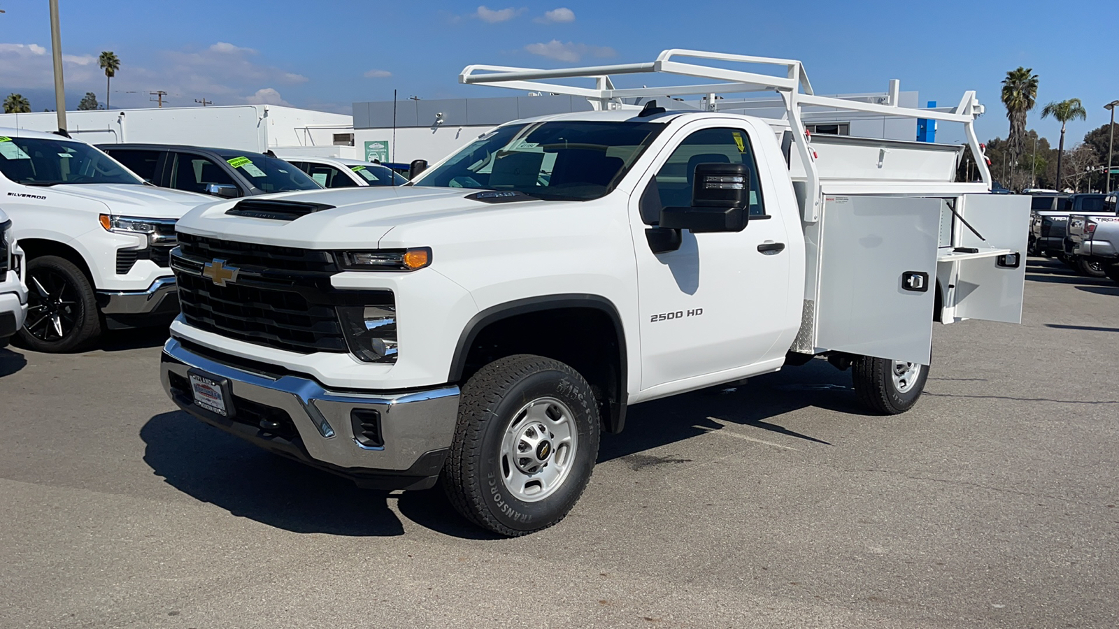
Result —
<instances>
[{"instance_id":1,"label":"black-spoked front wheel of the parked white Silverado at left","mask_svg":"<svg viewBox=\"0 0 1119 629\"><path fill-rule=\"evenodd\" d=\"M27 263L27 321L17 336L21 347L50 354L79 351L101 336L93 285L73 262L54 255L32 257Z\"/></svg>"}]
</instances>

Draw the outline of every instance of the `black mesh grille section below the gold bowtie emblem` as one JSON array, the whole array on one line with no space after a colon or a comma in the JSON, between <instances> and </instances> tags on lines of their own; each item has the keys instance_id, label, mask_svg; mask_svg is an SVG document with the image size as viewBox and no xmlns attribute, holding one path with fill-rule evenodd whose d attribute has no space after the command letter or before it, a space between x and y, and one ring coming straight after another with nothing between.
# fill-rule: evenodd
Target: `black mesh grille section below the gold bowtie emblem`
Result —
<instances>
[{"instance_id":1,"label":"black mesh grille section below the gold bowtie emblem","mask_svg":"<svg viewBox=\"0 0 1119 629\"><path fill-rule=\"evenodd\" d=\"M176 275L182 316L196 328L302 354L347 350L331 306L311 303L294 291L219 287L208 278Z\"/></svg>"}]
</instances>

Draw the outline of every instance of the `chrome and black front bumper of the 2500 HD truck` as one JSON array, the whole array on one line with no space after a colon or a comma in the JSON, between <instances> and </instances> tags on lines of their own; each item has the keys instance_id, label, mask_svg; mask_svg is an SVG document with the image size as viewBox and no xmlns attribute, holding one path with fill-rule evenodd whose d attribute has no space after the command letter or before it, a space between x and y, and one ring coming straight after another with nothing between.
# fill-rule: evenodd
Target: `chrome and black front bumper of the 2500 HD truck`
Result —
<instances>
[{"instance_id":1,"label":"chrome and black front bumper of the 2500 HD truck","mask_svg":"<svg viewBox=\"0 0 1119 629\"><path fill-rule=\"evenodd\" d=\"M207 351L208 354L208 351ZM406 393L331 392L295 375L264 375L223 364L220 356L200 356L170 339L163 346L160 378L180 409L262 448L346 476L358 485L382 489L420 489L434 485L454 435L459 387L442 386ZM188 372L228 382L232 417L194 404ZM237 406L246 413L238 413ZM357 439L355 411L379 414L383 445ZM257 421L261 413L266 421ZM368 417L368 413L363 416ZM279 420L295 434L270 430ZM285 423L290 422L290 423Z\"/></svg>"}]
</instances>

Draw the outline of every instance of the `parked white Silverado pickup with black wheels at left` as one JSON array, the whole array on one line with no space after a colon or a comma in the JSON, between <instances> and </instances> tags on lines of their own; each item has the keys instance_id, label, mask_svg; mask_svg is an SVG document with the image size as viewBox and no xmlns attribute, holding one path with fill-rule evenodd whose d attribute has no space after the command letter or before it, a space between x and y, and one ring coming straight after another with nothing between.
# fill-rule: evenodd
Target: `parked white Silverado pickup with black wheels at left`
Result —
<instances>
[{"instance_id":1,"label":"parked white Silverado pickup with black wheels at left","mask_svg":"<svg viewBox=\"0 0 1119 629\"><path fill-rule=\"evenodd\" d=\"M19 342L76 351L103 329L169 321L175 222L210 197L145 185L94 147L0 129L0 208L27 257Z\"/></svg>"}]
</instances>

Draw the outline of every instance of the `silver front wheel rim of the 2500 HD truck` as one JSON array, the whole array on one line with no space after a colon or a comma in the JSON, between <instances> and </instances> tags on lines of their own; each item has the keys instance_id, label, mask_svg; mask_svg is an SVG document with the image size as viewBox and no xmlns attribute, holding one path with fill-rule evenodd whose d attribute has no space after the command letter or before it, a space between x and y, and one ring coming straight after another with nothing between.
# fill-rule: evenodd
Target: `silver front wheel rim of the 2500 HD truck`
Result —
<instances>
[{"instance_id":1,"label":"silver front wheel rim of the 2500 HD truck","mask_svg":"<svg viewBox=\"0 0 1119 629\"><path fill-rule=\"evenodd\" d=\"M517 411L501 439L501 480L518 500L555 494L571 476L579 448L575 414L554 397L537 397Z\"/></svg>"}]
</instances>

